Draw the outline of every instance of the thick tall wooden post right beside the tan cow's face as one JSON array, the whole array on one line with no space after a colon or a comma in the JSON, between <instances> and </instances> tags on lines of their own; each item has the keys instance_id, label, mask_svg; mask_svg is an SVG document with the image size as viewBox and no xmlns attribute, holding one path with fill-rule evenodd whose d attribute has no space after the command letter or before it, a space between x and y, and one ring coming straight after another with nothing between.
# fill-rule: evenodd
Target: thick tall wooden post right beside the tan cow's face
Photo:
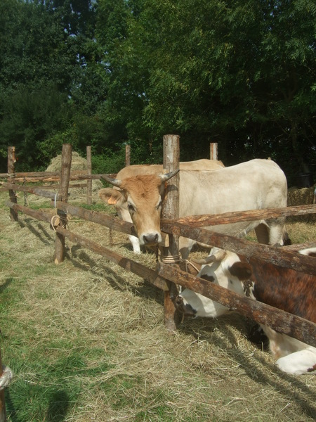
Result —
<instances>
[{"instance_id":1,"label":"thick tall wooden post right beside the tan cow's face","mask_svg":"<svg viewBox=\"0 0 316 422\"><path fill-rule=\"evenodd\" d=\"M164 172L169 173L179 168L180 147L178 135L164 135ZM166 182L165 197L162 207L162 219L174 219L179 216L179 174ZM169 234L169 246L163 248L162 262L178 266L179 238ZM164 292L164 321L169 331L176 330L176 307L173 304L173 295L178 294L175 283L167 281L169 290Z\"/></svg>"}]
</instances>

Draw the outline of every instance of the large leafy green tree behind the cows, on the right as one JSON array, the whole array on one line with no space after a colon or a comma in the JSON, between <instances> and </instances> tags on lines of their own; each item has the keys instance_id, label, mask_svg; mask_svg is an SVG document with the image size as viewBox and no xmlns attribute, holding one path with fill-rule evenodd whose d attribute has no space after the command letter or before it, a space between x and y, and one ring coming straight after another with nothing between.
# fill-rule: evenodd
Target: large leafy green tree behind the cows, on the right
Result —
<instances>
[{"instance_id":1,"label":"large leafy green tree behind the cows, on the right","mask_svg":"<svg viewBox=\"0 0 316 422\"><path fill-rule=\"evenodd\" d=\"M272 156L290 177L306 160L315 162L311 1L121 5L130 8L127 25L115 60L114 49L107 57L120 103L141 98L135 120L126 118L126 106L134 139L144 139L144 128L154 144L162 134L178 133L186 159L208 155L209 142L218 141L226 164Z\"/></svg>"}]
</instances>

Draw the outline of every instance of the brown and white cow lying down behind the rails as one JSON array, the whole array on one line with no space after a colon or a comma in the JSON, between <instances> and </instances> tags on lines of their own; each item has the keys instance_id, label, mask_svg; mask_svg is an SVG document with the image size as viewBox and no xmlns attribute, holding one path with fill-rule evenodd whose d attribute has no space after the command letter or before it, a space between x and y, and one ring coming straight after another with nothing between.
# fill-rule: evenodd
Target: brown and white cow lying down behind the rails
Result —
<instances>
[{"instance_id":1,"label":"brown and white cow lying down behind the rails","mask_svg":"<svg viewBox=\"0 0 316 422\"><path fill-rule=\"evenodd\" d=\"M315 256L312 254L315 254L316 248L300 252ZM243 281L249 279L252 274L252 298L316 323L315 276L297 273L291 269L279 269L268 263L251 267L247 262L241 262L234 252L218 248L211 250L206 262L209 263L203 265L197 274L200 278L236 293L245 294ZM229 312L227 307L190 289L183 290L175 303L178 310L187 316L217 318ZM315 347L278 333L269 326L261 324L261 327L269 339L270 351L277 360L279 369L296 375L316 373Z\"/></svg>"}]
</instances>

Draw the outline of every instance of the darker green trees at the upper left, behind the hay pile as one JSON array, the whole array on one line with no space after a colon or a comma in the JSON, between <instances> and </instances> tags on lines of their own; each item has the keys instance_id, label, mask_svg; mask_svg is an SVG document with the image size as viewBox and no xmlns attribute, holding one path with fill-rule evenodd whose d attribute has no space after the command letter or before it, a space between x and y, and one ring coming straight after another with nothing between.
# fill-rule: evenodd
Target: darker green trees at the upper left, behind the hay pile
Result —
<instances>
[{"instance_id":1,"label":"darker green trees at the upper left, behind the hay pile","mask_svg":"<svg viewBox=\"0 0 316 422\"><path fill-rule=\"evenodd\" d=\"M18 167L35 170L50 158L47 141L63 139L73 115L91 99L71 101L81 89L90 59L93 9L90 1L4 0L0 4L0 152L14 145ZM91 25L90 25L91 22ZM92 28L91 28L92 27ZM92 84L91 84L92 85ZM91 88L92 90L92 88ZM78 96L78 95L77 95ZM92 94L91 94L92 96ZM74 144L76 134L72 131ZM43 150L43 151L42 151ZM58 151L60 153L60 151Z\"/></svg>"}]
</instances>

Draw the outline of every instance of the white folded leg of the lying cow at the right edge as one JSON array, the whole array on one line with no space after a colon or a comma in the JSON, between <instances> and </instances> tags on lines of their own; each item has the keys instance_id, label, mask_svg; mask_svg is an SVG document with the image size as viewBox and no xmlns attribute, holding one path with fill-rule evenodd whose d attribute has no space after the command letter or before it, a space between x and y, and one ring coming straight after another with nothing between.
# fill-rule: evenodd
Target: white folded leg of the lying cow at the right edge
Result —
<instances>
[{"instance_id":1,"label":"white folded leg of the lying cow at the right edge","mask_svg":"<svg viewBox=\"0 0 316 422\"><path fill-rule=\"evenodd\" d=\"M301 375L303 373L316 374L316 349L299 350L277 359L277 366L281 371Z\"/></svg>"}]
</instances>

